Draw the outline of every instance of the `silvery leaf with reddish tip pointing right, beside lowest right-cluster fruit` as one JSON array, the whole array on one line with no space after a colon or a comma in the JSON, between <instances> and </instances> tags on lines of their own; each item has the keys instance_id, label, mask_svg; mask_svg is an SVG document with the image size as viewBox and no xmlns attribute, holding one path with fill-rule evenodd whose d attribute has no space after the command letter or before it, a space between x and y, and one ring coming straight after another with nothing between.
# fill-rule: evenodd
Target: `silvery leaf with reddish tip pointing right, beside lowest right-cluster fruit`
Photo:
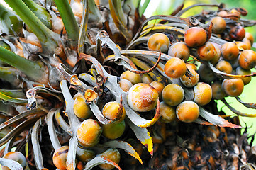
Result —
<instances>
[{"instance_id":1,"label":"silvery leaf with reddish tip pointing right, beside lowest right-cluster fruit","mask_svg":"<svg viewBox=\"0 0 256 170\"><path fill-rule=\"evenodd\" d=\"M199 107L199 115L201 115L201 117L205 118L209 123L212 123L213 125L229 128L242 128L240 125L235 125L233 123L228 122L228 120L221 118L221 116L219 115L213 115L209 113L202 107Z\"/></svg>"}]
</instances>

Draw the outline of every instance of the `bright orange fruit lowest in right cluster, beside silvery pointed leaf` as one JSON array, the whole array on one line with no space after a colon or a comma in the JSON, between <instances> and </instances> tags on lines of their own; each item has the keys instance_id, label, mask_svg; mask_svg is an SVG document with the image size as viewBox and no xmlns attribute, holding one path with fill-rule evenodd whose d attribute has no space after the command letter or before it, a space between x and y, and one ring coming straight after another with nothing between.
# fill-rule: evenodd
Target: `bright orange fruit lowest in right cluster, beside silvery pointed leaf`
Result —
<instances>
[{"instance_id":1,"label":"bright orange fruit lowest in right cluster, beside silvery pointed leaf","mask_svg":"<svg viewBox=\"0 0 256 170\"><path fill-rule=\"evenodd\" d=\"M184 101L177 106L176 115L182 122L194 122L199 117L199 106L194 101Z\"/></svg>"}]
</instances>

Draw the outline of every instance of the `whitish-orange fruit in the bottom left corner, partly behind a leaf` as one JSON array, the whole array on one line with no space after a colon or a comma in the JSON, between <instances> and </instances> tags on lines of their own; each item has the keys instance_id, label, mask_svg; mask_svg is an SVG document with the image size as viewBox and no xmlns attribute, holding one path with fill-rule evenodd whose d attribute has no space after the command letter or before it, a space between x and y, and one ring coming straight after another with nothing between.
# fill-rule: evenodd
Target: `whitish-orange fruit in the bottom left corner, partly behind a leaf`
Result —
<instances>
[{"instance_id":1,"label":"whitish-orange fruit in the bottom left corner, partly behind a leaf","mask_svg":"<svg viewBox=\"0 0 256 170\"><path fill-rule=\"evenodd\" d=\"M3 158L16 161L19 164L21 164L23 168L26 166L26 157L21 152L16 152L16 151L8 152L7 154L4 155ZM1 166L1 168L2 170L9 170L7 166Z\"/></svg>"}]
</instances>

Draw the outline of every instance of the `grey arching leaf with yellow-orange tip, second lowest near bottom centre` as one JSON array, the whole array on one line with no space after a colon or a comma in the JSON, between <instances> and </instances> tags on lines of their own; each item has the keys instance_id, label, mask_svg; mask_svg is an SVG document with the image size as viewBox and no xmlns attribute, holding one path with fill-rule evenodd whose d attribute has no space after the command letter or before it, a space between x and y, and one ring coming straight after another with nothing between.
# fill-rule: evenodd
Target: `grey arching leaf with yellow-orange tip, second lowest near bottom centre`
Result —
<instances>
[{"instance_id":1,"label":"grey arching leaf with yellow-orange tip, second lowest near bottom centre","mask_svg":"<svg viewBox=\"0 0 256 170\"><path fill-rule=\"evenodd\" d=\"M109 142L105 142L104 144L100 145L101 147L114 147L119 149L124 149L128 154L138 159L140 164L143 165L143 161L140 159L140 155L135 151L135 149L128 144L128 142L118 141L118 140L111 140Z\"/></svg>"}]
</instances>

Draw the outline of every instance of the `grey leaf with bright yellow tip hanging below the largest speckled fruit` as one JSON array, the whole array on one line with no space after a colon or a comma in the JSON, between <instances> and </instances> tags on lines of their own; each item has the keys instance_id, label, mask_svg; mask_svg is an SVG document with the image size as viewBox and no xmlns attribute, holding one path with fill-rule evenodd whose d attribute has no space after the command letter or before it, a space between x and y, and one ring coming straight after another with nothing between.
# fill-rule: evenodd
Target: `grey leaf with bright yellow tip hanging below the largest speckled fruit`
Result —
<instances>
[{"instance_id":1,"label":"grey leaf with bright yellow tip hanging below the largest speckled fruit","mask_svg":"<svg viewBox=\"0 0 256 170\"><path fill-rule=\"evenodd\" d=\"M130 128L135 133L137 139L140 140L141 144L148 149L148 152L150 152L151 157L153 157L153 142L150 136L150 132L148 132L147 128L138 127L129 118L126 118L126 123L128 123Z\"/></svg>"}]
</instances>

